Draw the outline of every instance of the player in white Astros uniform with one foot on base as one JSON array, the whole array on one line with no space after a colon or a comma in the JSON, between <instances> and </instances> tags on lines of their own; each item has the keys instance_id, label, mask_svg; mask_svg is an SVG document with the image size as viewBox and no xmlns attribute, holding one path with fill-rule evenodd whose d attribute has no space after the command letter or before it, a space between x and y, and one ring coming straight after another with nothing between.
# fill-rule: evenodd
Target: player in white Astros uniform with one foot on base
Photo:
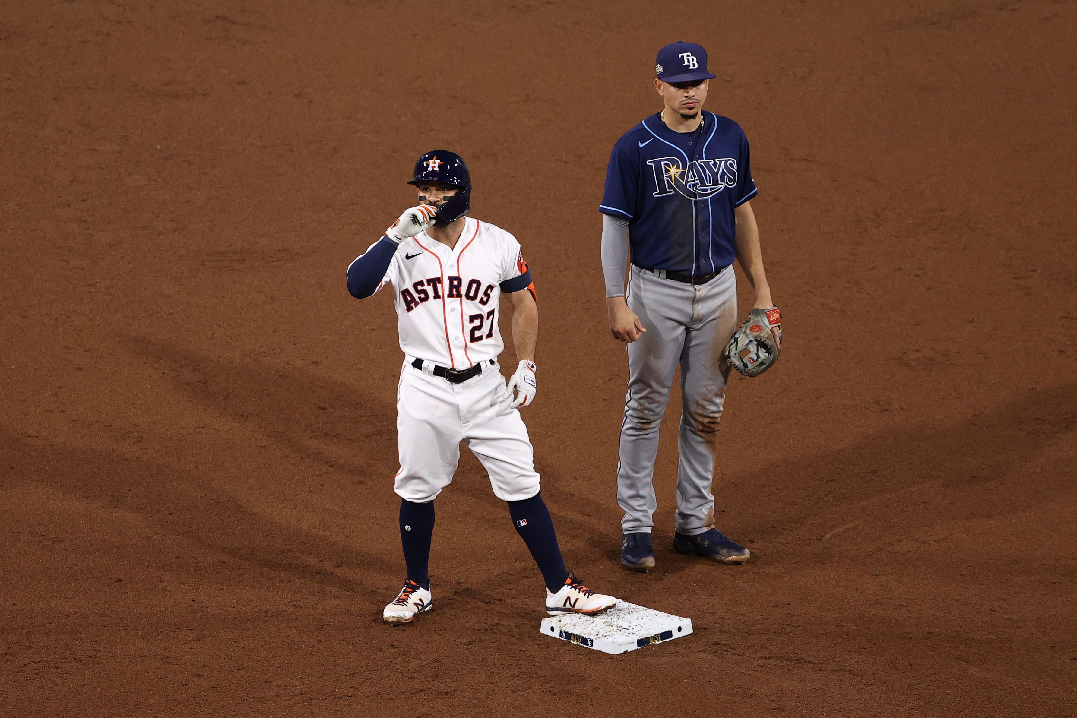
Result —
<instances>
[{"instance_id":1,"label":"player in white Astros uniform with one foot on base","mask_svg":"<svg viewBox=\"0 0 1077 718\"><path fill-rule=\"evenodd\" d=\"M494 495L508 503L513 524L546 583L546 610L607 610L617 600L591 591L564 567L518 411L537 391L538 336L534 283L520 244L504 229L465 216L471 174L459 155L428 152L408 184L418 191L419 203L348 267L348 291L354 297L393 287L404 352L396 390L401 468L394 490L401 497L407 579L382 618L408 623L433 607L428 565L434 499L452 481L461 441L482 463ZM504 349L498 328L503 294L513 306L519 360L507 385L498 370Z\"/></svg>"}]
</instances>

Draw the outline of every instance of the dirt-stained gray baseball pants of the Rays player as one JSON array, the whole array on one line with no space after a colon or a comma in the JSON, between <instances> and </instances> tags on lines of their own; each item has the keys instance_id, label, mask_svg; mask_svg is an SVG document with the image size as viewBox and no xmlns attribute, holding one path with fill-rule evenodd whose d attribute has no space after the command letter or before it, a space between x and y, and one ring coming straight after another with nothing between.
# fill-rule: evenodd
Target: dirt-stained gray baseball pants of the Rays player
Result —
<instances>
[{"instance_id":1,"label":"dirt-stained gray baseball pants of the Rays player","mask_svg":"<svg viewBox=\"0 0 1077 718\"><path fill-rule=\"evenodd\" d=\"M628 394L617 465L617 503L625 509L621 531L649 533L654 526L658 428L680 365L676 531L701 534L714 525L711 481L729 376L723 350L737 328L737 277L732 267L726 267L708 283L693 285L632 265L625 294L647 330L628 344Z\"/></svg>"}]
</instances>

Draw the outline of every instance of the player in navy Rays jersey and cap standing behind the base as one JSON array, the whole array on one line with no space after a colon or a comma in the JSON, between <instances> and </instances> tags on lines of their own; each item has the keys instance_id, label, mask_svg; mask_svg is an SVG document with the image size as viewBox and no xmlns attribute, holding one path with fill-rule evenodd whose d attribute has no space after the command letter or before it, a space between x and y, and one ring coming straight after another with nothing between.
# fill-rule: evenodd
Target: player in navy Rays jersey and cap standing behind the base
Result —
<instances>
[{"instance_id":1,"label":"player in navy Rays jersey and cap standing behind the base","mask_svg":"<svg viewBox=\"0 0 1077 718\"><path fill-rule=\"evenodd\" d=\"M655 565L658 427L679 365L673 548L722 563L749 559L714 526L711 494L729 375L723 351L737 325L733 259L755 290L755 306L773 308L750 202L756 187L747 139L732 119L703 111L714 78L707 52L675 42L658 52L655 70L662 110L617 140L599 208L610 329L628 342L617 503L625 510L621 562L635 571Z\"/></svg>"}]
</instances>

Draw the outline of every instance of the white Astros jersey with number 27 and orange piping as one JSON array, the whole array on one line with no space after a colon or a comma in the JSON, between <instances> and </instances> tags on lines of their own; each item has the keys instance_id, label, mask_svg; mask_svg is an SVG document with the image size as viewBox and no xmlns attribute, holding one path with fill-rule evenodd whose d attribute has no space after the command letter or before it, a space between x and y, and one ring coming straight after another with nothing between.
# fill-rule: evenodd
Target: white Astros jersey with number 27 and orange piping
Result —
<instances>
[{"instance_id":1,"label":"white Astros jersey with number 27 and orange piping","mask_svg":"<svg viewBox=\"0 0 1077 718\"><path fill-rule=\"evenodd\" d=\"M496 358L505 348L498 329L501 292L533 293L533 285L517 286L527 281L527 268L515 237L464 217L453 249L426 233L402 241L378 291L387 284L394 290L401 350L407 356L466 369Z\"/></svg>"}]
</instances>

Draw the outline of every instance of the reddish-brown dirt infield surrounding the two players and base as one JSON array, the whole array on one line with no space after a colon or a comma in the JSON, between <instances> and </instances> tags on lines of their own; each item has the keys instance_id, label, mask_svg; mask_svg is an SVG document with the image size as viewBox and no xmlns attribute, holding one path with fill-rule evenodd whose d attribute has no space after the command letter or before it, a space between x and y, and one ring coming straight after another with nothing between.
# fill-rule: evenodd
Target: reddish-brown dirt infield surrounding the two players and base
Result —
<instances>
[{"instance_id":1,"label":"reddish-brown dirt infield surrounding the two players and base","mask_svg":"<svg viewBox=\"0 0 1077 718\"><path fill-rule=\"evenodd\" d=\"M1074 2L2 4L0 715L1077 716ZM787 324L723 421L753 560L669 546L674 414L644 576L597 205L679 39L752 141ZM401 354L345 268L435 146L536 280L567 562L695 635L541 636L470 454L436 609L379 620Z\"/></svg>"}]
</instances>

